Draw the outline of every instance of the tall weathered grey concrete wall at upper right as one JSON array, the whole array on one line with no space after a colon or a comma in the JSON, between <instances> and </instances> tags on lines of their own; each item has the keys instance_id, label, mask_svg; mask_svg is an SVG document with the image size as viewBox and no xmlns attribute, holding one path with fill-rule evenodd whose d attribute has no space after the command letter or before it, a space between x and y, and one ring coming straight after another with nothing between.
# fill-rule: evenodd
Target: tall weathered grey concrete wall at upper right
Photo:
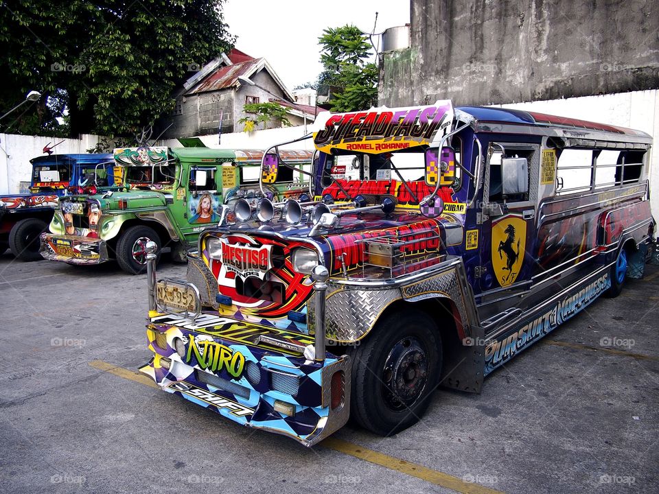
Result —
<instances>
[{"instance_id":1,"label":"tall weathered grey concrete wall at upper right","mask_svg":"<svg viewBox=\"0 0 659 494\"><path fill-rule=\"evenodd\" d=\"M380 104L500 104L659 88L651 0L412 0L411 48L380 65Z\"/></svg>"}]
</instances>

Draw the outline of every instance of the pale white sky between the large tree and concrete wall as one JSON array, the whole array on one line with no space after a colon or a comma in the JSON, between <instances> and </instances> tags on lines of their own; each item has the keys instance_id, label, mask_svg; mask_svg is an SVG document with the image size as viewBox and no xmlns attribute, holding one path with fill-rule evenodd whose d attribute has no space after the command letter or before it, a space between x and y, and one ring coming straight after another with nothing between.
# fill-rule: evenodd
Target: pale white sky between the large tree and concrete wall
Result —
<instances>
[{"instance_id":1,"label":"pale white sky between the large tree and concrete wall","mask_svg":"<svg viewBox=\"0 0 659 494\"><path fill-rule=\"evenodd\" d=\"M226 0L224 22L238 36L235 47L264 57L288 89L314 82L323 70L318 38L327 27L354 24L375 32L410 22L409 0ZM377 38L373 38L375 42Z\"/></svg>"}]
</instances>

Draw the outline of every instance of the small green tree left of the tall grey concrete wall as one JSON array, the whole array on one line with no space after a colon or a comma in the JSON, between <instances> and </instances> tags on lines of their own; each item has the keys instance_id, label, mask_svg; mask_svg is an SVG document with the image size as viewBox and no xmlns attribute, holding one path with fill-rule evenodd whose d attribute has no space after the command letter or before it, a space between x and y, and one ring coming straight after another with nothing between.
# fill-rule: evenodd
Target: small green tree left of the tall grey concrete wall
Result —
<instances>
[{"instance_id":1,"label":"small green tree left of the tall grey concrete wall","mask_svg":"<svg viewBox=\"0 0 659 494\"><path fill-rule=\"evenodd\" d=\"M378 103L378 67L369 62L371 45L358 27L327 28L319 38L323 72L318 86L329 86L332 111L355 111Z\"/></svg>"}]
</instances>

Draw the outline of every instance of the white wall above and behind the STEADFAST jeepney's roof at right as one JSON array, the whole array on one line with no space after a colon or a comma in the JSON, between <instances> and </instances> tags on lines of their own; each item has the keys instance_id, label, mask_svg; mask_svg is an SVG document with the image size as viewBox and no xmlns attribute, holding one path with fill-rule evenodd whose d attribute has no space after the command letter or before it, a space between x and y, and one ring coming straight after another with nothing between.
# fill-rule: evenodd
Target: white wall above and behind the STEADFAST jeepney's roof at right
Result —
<instances>
[{"instance_id":1,"label":"white wall above and behind the STEADFAST jeepney's roof at right","mask_svg":"<svg viewBox=\"0 0 659 494\"><path fill-rule=\"evenodd\" d=\"M511 103L503 108L537 111L643 130L654 140L650 159L650 198L652 214L659 221L659 91L633 91L600 96Z\"/></svg>"}]
</instances>

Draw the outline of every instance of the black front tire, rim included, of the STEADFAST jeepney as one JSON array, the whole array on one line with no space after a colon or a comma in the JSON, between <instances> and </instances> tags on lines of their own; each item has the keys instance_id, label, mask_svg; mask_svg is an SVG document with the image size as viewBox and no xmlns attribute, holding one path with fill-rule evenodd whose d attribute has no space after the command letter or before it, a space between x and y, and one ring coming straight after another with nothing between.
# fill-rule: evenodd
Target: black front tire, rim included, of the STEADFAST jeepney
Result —
<instances>
[{"instance_id":1,"label":"black front tire, rim included, of the STEADFAST jeepney","mask_svg":"<svg viewBox=\"0 0 659 494\"><path fill-rule=\"evenodd\" d=\"M385 316L351 356L356 423L392 436L419 421L441 374L441 336L430 316L402 311Z\"/></svg>"}]
</instances>

